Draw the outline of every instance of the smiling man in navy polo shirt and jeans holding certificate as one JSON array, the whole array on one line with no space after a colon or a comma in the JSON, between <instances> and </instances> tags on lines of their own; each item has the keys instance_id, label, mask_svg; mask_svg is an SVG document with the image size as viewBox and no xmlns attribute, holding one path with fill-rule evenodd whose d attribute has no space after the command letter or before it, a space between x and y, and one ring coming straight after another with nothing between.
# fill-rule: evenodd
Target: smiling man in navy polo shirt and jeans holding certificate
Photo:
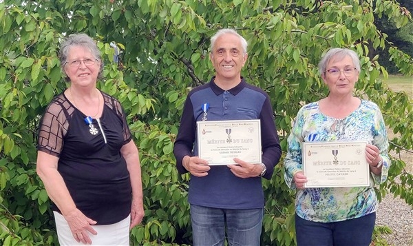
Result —
<instances>
[{"instance_id":1,"label":"smiling man in navy polo shirt and jeans holding certificate","mask_svg":"<svg viewBox=\"0 0 413 246\"><path fill-rule=\"evenodd\" d=\"M193 245L260 245L264 192L282 154L268 94L241 76L246 40L232 29L211 38L211 81L189 92L173 147L178 172L191 173L189 204ZM262 163L208 165L198 157L197 121L260 119ZM226 235L225 235L226 234Z\"/></svg>"}]
</instances>

